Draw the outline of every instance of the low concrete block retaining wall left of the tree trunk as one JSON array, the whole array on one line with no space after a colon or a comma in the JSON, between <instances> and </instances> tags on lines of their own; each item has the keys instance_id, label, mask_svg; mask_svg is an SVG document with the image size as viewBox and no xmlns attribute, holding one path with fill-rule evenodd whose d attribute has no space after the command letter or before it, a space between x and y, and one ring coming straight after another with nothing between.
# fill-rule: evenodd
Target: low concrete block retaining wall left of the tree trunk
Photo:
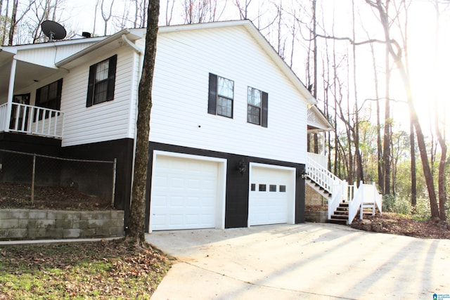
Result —
<instances>
[{"instance_id":1,"label":"low concrete block retaining wall left of the tree trunk","mask_svg":"<svg viewBox=\"0 0 450 300\"><path fill-rule=\"evenodd\" d=\"M0 209L0 240L48 240L124 235L124 211Z\"/></svg>"}]
</instances>

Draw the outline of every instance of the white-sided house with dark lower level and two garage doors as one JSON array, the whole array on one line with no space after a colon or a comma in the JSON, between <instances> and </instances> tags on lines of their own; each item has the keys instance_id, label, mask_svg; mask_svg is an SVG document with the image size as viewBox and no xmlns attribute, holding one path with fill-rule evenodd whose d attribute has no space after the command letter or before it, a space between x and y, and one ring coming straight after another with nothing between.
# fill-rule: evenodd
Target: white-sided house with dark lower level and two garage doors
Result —
<instances>
[{"instance_id":1,"label":"white-sided house with dark lower level and two garage doors","mask_svg":"<svg viewBox=\"0 0 450 300\"><path fill-rule=\"evenodd\" d=\"M60 134L45 138L60 140L60 155L117 158L115 206L126 218L144 37L145 29L131 29L0 48L0 146L13 147L11 134L43 135L11 125L18 99L57 110ZM58 87L53 107L42 104L46 86ZM148 230L303 222L300 174L307 162L307 110L314 103L248 20L160 27Z\"/></svg>"}]
</instances>

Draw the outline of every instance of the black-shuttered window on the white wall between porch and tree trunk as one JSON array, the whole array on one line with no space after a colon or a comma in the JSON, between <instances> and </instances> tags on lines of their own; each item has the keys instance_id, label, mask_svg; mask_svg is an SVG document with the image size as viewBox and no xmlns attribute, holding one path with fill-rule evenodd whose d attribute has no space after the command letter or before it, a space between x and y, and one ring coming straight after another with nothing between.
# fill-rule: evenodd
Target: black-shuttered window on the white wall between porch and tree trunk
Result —
<instances>
[{"instance_id":1,"label":"black-shuttered window on the white wall between porch and tree trunk","mask_svg":"<svg viewBox=\"0 0 450 300\"><path fill-rule=\"evenodd\" d=\"M114 99L117 55L89 67L86 107Z\"/></svg>"}]
</instances>

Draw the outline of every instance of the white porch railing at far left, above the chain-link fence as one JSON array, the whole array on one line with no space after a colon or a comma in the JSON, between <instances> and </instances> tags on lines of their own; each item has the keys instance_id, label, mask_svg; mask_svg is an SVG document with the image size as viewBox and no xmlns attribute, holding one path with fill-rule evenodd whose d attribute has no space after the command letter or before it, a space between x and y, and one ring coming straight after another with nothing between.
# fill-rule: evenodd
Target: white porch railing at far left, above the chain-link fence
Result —
<instances>
[{"instance_id":1,"label":"white porch railing at far left, above the chain-link fence","mask_svg":"<svg viewBox=\"0 0 450 300\"><path fill-rule=\"evenodd\" d=\"M11 114L8 124L8 114ZM63 138L64 112L20 103L0 105L0 132L11 131L51 138Z\"/></svg>"}]
</instances>

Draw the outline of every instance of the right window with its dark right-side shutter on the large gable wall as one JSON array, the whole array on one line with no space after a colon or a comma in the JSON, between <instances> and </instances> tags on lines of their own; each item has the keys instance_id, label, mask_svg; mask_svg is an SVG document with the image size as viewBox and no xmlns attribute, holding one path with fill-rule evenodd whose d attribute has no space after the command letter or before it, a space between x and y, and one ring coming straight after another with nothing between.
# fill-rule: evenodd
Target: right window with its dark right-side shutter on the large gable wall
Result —
<instances>
[{"instance_id":1,"label":"right window with its dark right-side shutter on the large gable wall","mask_svg":"<svg viewBox=\"0 0 450 300\"><path fill-rule=\"evenodd\" d=\"M267 127L268 94L248 87L247 122Z\"/></svg>"}]
</instances>

